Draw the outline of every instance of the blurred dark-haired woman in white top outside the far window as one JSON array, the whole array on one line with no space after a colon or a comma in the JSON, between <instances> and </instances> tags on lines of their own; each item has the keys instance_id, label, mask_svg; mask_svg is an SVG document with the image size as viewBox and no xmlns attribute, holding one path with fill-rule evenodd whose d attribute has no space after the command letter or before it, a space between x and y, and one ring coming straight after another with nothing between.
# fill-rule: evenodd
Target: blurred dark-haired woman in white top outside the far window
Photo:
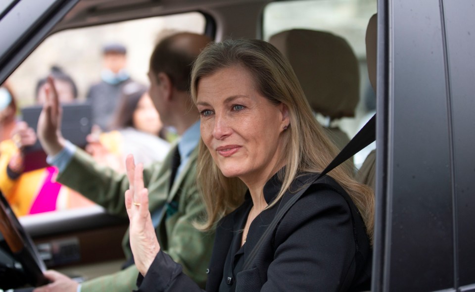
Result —
<instances>
[{"instance_id":1,"label":"blurred dark-haired woman in white top outside the far window","mask_svg":"<svg viewBox=\"0 0 475 292\"><path fill-rule=\"evenodd\" d=\"M124 86L111 124L113 131L88 137L87 150L96 161L125 172L125 155L144 165L163 161L170 149L165 130L147 88L131 82ZM100 143L99 143L100 142Z\"/></svg>"}]
</instances>

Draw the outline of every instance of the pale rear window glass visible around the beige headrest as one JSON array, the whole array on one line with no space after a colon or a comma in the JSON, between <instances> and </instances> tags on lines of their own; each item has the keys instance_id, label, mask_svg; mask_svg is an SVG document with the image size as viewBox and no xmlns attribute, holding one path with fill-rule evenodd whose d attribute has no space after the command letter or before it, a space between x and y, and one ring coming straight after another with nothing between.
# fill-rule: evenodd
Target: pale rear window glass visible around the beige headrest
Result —
<instances>
[{"instance_id":1,"label":"pale rear window glass visible around the beige headrest","mask_svg":"<svg viewBox=\"0 0 475 292\"><path fill-rule=\"evenodd\" d=\"M365 46L366 27L376 11L376 0L297 0L271 2L263 13L263 38L266 41L274 34L298 28L331 32L349 43L360 67L360 101L355 118L342 118L330 123L328 118L317 114L322 124L338 126L349 138L376 110L376 97L368 79ZM369 151L370 148L362 151L361 158L355 157L357 167Z\"/></svg>"}]
</instances>

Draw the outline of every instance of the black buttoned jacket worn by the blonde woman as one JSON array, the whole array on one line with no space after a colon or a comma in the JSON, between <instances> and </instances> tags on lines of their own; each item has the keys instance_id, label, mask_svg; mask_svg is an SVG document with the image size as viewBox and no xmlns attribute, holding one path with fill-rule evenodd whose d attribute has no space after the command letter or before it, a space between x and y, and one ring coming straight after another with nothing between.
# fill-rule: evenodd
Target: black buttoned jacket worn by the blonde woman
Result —
<instances>
[{"instance_id":1,"label":"black buttoned jacket worn by the blonde woman","mask_svg":"<svg viewBox=\"0 0 475 292\"><path fill-rule=\"evenodd\" d=\"M298 188L314 176L297 178L282 201L262 211L252 222L246 243L239 248L243 223L252 206L245 202L217 226L209 264L208 292L253 291L365 291L370 289L371 247L364 223L343 189L326 177L310 186L288 210L273 236L264 244L249 270L241 271L246 254ZM321 181L320 181L321 182ZM271 202L280 189L274 176L264 187ZM236 252L238 250L238 252ZM200 291L181 272L180 265L159 252L139 291Z\"/></svg>"}]
</instances>

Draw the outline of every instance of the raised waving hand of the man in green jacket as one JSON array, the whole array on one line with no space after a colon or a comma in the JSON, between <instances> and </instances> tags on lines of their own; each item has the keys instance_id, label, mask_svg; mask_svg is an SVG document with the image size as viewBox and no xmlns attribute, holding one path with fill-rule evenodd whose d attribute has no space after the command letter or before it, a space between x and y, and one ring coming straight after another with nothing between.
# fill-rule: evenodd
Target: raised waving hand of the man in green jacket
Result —
<instances>
[{"instance_id":1,"label":"raised waving hand of the man in green jacket","mask_svg":"<svg viewBox=\"0 0 475 292\"><path fill-rule=\"evenodd\" d=\"M42 92L46 100L38 119L38 139L48 155L55 155L63 149L64 138L61 135L61 106L51 76Z\"/></svg>"}]
</instances>

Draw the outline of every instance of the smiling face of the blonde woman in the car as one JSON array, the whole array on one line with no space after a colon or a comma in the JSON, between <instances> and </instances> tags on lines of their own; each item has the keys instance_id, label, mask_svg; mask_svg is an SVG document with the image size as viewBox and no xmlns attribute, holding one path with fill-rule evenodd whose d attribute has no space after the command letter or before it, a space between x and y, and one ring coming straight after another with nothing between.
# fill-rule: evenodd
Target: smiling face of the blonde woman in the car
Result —
<instances>
[{"instance_id":1,"label":"smiling face of the blonde woman in the car","mask_svg":"<svg viewBox=\"0 0 475 292\"><path fill-rule=\"evenodd\" d=\"M239 177L249 186L272 175L288 111L259 94L247 69L232 66L202 78L197 107L201 138L226 177Z\"/></svg>"}]
</instances>

